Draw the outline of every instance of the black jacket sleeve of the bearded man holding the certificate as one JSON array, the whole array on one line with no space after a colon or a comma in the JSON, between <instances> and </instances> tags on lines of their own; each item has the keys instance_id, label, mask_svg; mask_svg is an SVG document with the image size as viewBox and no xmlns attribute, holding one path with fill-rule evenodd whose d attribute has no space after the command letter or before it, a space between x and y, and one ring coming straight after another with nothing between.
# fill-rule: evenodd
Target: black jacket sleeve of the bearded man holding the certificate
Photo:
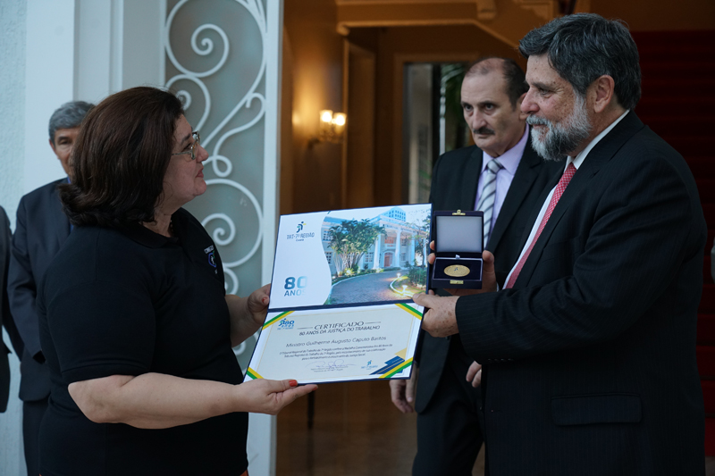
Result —
<instances>
[{"instance_id":1,"label":"black jacket sleeve of the bearded man holding the certificate","mask_svg":"<svg viewBox=\"0 0 715 476\"><path fill-rule=\"evenodd\" d=\"M702 266L702 209L677 169L657 150L633 151L620 164L592 180L602 192L589 196L586 184L566 210L528 287L458 299L460 336L476 361L615 338L660 296L676 293L680 273L692 274L684 266ZM681 284L677 292L698 299L699 288Z\"/></svg>"}]
</instances>

